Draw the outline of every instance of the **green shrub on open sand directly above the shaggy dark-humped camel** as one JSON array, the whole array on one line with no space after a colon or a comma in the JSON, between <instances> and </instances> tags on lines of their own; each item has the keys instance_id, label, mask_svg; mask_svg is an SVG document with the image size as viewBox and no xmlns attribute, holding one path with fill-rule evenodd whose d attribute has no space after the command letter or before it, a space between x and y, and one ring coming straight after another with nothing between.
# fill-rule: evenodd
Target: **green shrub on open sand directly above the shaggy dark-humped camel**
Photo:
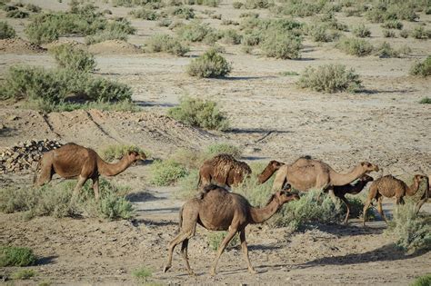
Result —
<instances>
[{"instance_id":1,"label":"green shrub on open sand directly above the shaggy dark-humped camel","mask_svg":"<svg viewBox=\"0 0 431 286\"><path fill-rule=\"evenodd\" d=\"M213 101L184 96L180 98L179 106L170 108L167 114L189 126L222 131L228 127L225 113L220 112Z\"/></svg>"}]
</instances>

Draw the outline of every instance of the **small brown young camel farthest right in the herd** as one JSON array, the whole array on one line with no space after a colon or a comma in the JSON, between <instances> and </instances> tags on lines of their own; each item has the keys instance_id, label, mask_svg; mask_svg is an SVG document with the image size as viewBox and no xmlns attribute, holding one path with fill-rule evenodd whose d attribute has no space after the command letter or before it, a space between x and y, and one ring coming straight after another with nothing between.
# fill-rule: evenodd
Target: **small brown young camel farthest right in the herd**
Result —
<instances>
[{"instance_id":1,"label":"small brown young camel farthest right in the herd","mask_svg":"<svg viewBox=\"0 0 431 286\"><path fill-rule=\"evenodd\" d=\"M412 185L407 186L406 182L396 179L392 175L386 175L381 178L378 178L370 186L370 192L368 193L368 198L366 199L366 203L364 205L364 219L362 221L362 224L366 226L366 210L368 209L373 199L376 199L377 201L378 213L380 213L383 220L387 223L385 213L382 209L383 197L396 197L396 204L404 203L404 197L406 195L415 195L417 190L419 190L420 182L424 179L427 181L428 178L424 175L416 174L413 178ZM426 194L428 193L427 191L428 190L426 190Z\"/></svg>"}]
</instances>

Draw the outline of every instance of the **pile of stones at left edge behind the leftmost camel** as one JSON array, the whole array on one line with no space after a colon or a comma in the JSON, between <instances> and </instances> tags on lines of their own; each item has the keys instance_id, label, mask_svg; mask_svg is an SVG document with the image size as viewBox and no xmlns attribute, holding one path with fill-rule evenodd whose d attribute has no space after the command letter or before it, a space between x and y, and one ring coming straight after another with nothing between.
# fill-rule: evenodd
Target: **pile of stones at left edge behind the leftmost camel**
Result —
<instances>
[{"instance_id":1,"label":"pile of stones at left edge behind the leftmost camel","mask_svg":"<svg viewBox=\"0 0 431 286\"><path fill-rule=\"evenodd\" d=\"M61 146L62 143L48 139L17 143L0 153L0 173L34 170L43 153Z\"/></svg>"}]
</instances>

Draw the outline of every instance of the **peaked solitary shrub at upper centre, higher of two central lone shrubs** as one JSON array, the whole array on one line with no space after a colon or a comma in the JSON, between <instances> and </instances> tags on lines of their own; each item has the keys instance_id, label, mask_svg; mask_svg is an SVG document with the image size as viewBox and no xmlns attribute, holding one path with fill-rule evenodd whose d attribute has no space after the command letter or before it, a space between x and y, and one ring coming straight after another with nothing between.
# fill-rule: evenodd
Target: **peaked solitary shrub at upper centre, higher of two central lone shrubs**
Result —
<instances>
[{"instance_id":1,"label":"peaked solitary shrub at upper centre, higher of two central lone shrubs","mask_svg":"<svg viewBox=\"0 0 431 286\"><path fill-rule=\"evenodd\" d=\"M187 66L187 74L197 77L224 77L232 67L215 49L209 49Z\"/></svg>"}]
</instances>

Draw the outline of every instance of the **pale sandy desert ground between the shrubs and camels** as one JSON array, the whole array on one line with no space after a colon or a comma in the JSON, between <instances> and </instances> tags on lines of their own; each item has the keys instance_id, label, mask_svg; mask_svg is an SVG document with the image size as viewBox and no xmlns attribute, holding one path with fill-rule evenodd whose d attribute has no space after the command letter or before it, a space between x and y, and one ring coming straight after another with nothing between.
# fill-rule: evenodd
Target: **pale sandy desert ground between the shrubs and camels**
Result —
<instances>
[{"instance_id":1,"label":"pale sandy desert ground between the shrubs and camels","mask_svg":"<svg viewBox=\"0 0 431 286\"><path fill-rule=\"evenodd\" d=\"M55 11L68 7L68 1L21 2ZM110 16L130 17L127 13L132 9L102 1L95 1L95 5L109 8L113 13ZM216 14L238 21L239 14L245 11L233 9L230 0L222 1L218 7L194 8L215 10ZM255 10L268 15L267 10ZM206 23L222 27L219 20L202 15ZM348 25L362 21L357 16L336 15ZM28 19L5 18L4 11L0 11L0 18L25 39ZM130 20L137 28L128 39L130 44L142 45L150 35L172 33L155 25L155 21ZM417 22L429 29L431 15L421 13ZM406 28L413 25L403 23ZM408 74L412 64L431 54L431 42L411 37L386 39L379 24L366 25L372 32L368 39L372 44L406 44L411 53L401 58L356 57L340 52L333 43L317 44L306 39L300 60L281 60L244 54L237 45L226 45L223 55L232 63L232 73L223 79L199 79L187 75L185 66L205 51L204 44L193 44L184 57L137 54L109 44L98 46L95 74L132 86L133 100L142 110L43 114L21 104L0 102L0 148L45 138L75 142L95 150L126 143L141 146L150 150L152 157L164 159L178 148L200 150L212 143L230 143L243 150L242 160L247 163L290 163L299 156L312 155L341 173L367 161L378 164L383 174L403 180L415 173L431 174L431 106L418 104L421 98L431 95L431 81L429 77ZM70 40L83 42L79 36L60 38ZM47 52L2 44L2 78L15 64L55 66ZM298 88L297 75L280 75L286 71L301 74L308 65L333 63L354 68L364 88L356 94L317 93ZM167 109L178 104L185 94L216 101L229 118L229 130L207 131L167 117ZM136 216L131 221L53 217L24 221L20 213L0 213L0 244L27 246L40 257L38 264L31 267L38 275L14 283L133 285L142 281L137 281L132 271L145 266L153 270L147 282L161 284L407 285L431 269L431 253L397 249L394 238L384 233L385 222L377 215L367 228L357 219L348 226L316 224L298 232L266 224L251 225L247 228L247 242L250 259L258 271L255 275L246 271L241 249L236 246L222 255L218 273L211 277L208 272L216 251L210 250L205 241L207 231L198 227L189 245L190 263L197 276L187 275L179 247L172 269L163 273L166 245L175 235L178 210L184 201L176 199L176 185L151 185L149 170L150 163L142 163L109 179L132 188ZM0 174L0 186L30 185L32 176L30 172ZM384 202L390 217L394 201ZM431 212L429 201L422 212ZM0 268L0 279L15 270Z\"/></svg>"}]
</instances>

